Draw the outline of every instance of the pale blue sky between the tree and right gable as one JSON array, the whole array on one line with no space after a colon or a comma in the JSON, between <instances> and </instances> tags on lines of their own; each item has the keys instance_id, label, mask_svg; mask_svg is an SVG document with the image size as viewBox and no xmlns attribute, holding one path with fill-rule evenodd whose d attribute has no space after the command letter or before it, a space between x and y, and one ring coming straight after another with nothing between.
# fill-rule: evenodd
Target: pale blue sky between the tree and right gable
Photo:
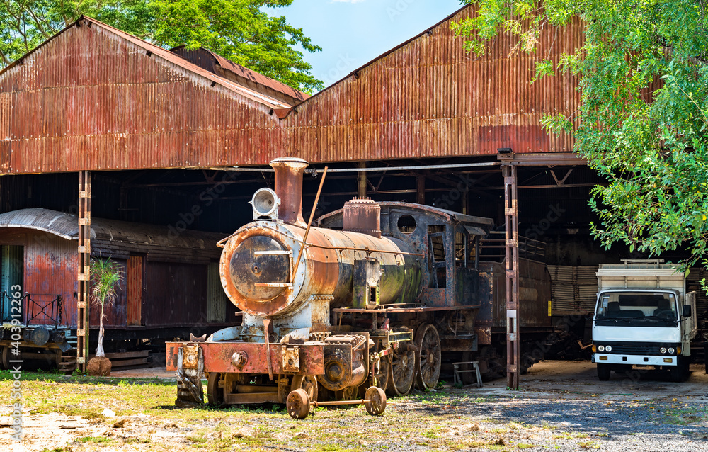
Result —
<instances>
[{"instance_id":1,"label":"pale blue sky between the tree and right gable","mask_svg":"<svg viewBox=\"0 0 708 452\"><path fill-rule=\"evenodd\" d=\"M295 0L266 11L285 16L322 47L303 51L304 60L329 86L460 8L459 0Z\"/></svg>"}]
</instances>

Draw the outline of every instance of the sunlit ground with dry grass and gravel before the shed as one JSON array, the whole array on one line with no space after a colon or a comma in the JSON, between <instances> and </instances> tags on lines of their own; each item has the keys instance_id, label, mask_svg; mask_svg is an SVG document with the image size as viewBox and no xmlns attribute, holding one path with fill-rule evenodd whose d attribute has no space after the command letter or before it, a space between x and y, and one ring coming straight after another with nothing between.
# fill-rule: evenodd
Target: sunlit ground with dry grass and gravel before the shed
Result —
<instances>
[{"instance_id":1,"label":"sunlit ground with dry grass and gravel before the shed","mask_svg":"<svg viewBox=\"0 0 708 452\"><path fill-rule=\"evenodd\" d=\"M129 378L130 377L130 378ZM37 374L23 381L23 441L11 439L11 375L0 373L0 451L666 451L708 450L708 375L671 383L661 372L598 381L587 361L545 361L521 390L498 379L362 407L176 409L176 383L159 368L111 378Z\"/></svg>"}]
</instances>

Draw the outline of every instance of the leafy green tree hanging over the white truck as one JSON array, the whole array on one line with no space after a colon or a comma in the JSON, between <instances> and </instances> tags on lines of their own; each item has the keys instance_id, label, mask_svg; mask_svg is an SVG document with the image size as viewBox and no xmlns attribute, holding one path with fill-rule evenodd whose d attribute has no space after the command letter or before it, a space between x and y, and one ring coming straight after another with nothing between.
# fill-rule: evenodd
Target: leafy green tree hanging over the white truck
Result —
<instances>
[{"instance_id":1,"label":"leafy green tree hanging over the white truck","mask_svg":"<svg viewBox=\"0 0 708 452\"><path fill-rule=\"evenodd\" d=\"M708 16L704 0L472 0L476 15L453 25L480 54L501 30L535 51L540 31L583 21L585 41L537 77L571 72L581 106L549 115L547 130L574 134L575 150L607 179L590 205L605 247L624 242L651 255L687 247L705 259L708 239ZM574 123L574 124L573 124ZM703 260L708 266L708 261Z\"/></svg>"}]
</instances>

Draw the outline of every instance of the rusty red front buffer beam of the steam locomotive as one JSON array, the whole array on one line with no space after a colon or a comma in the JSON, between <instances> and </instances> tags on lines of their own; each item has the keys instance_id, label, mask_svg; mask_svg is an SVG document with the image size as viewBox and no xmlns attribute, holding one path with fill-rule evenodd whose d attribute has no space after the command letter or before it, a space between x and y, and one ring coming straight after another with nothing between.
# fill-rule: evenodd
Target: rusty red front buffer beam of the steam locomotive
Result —
<instances>
[{"instance_id":1,"label":"rusty red front buffer beam of the steam locomotive","mask_svg":"<svg viewBox=\"0 0 708 452\"><path fill-rule=\"evenodd\" d=\"M167 342L167 371L177 370L177 354L183 342ZM248 342L200 342L198 346L204 355L204 368L209 372L268 373L266 353L270 349L273 373L283 373L281 344L253 344ZM325 344L299 344L299 372L305 375L324 373ZM234 355L238 359L234 360ZM242 358L244 357L245 358ZM239 366L234 364L239 363Z\"/></svg>"}]
</instances>

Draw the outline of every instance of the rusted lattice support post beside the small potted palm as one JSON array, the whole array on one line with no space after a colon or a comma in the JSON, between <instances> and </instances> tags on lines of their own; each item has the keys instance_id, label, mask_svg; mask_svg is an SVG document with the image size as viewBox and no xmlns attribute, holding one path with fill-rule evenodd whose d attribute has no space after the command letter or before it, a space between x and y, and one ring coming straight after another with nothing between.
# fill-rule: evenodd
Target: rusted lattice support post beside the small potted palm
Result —
<instances>
[{"instance_id":1,"label":"rusted lattice support post beside the small potted palm","mask_svg":"<svg viewBox=\"0 0 708 452\"><path fill-rule=\"evenodd\" d=\"M76 278L76 366L86 371L89 361L89 286L91 285L91 172L79 171L79 269Z\"/></svg>"}]
</instances>

